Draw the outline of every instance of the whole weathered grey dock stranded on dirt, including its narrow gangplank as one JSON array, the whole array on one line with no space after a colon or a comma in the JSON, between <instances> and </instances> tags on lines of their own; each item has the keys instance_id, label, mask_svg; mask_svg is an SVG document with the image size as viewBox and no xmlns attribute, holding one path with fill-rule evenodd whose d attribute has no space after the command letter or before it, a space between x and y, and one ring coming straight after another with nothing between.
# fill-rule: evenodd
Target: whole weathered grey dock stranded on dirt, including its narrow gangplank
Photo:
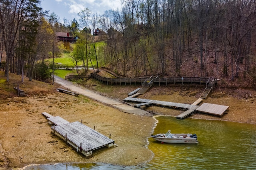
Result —
<instances>
[{"instance_id":1,"label":"whole weathered grey dock stranded on dirt, including its narrow gangplank","mask_svg":"<svg viewBox=\"0 0 256 170\"><path fill-rule=\"evenodd\" d=\"M49 122L54 124L51 132L63 139L67 144L72 146L76 152L85 156L91 156L92 151L102 147L112 147L114 140L102 135L90 127L76 121L68 122L59 116L51 116L44 112L42 115L48 117Z\"/></svg>"}]
</instances>

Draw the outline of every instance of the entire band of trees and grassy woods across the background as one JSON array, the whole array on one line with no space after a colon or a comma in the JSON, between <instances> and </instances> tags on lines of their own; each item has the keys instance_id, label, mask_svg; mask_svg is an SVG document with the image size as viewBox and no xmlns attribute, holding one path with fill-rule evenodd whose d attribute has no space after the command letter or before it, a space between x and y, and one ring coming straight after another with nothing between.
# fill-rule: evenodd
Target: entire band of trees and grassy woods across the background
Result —
<instances>
[{"instance_id":1,"label":"entire band of trees and grassy woods across the background","mask_svg":"<svg viewBox=\"0 0 256 170\"><path fill-rule=\"evenodd\" d=\"M79 24L75 19L60 23L39 4L0 2L1 62L7 80L9 71L24 74L24 68L30 80L48 79L54 58L68 53L74 65L82 61L84 72L94 65L125 77L213 76L223 84L255 87L255 0L123 0L121 10L100 16L85 8L78 12ZM96 28L106 33L100 47ZM79 40L65 49L56 32ZM50 65L44 62L49 58Z\"/></svg>"}]
</instances>

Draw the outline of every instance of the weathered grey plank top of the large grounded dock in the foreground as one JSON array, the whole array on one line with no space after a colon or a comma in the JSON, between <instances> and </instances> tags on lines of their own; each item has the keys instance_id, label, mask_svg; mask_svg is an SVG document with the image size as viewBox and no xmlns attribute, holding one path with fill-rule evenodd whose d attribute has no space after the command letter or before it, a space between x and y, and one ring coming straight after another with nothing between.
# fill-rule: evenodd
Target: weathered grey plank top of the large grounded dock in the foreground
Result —
<instances>
[{"instance_id":1,"label":"weathered grey plank top of the large grounded dock in the foreground","mask_svg":"<svg viewBox=\"0 0 256 170\"><path fill-rule=\"evenodd\" d=\"M89 152L101 147L105 147L111 143L112 139L102 135L101 133L91 129L90 127L76 121L72 123L62 124L51 127L52 133L58 133L62 138L66 137L76 147L80 147L82 143L82 150Z\"/></svg>"}]
</instances>

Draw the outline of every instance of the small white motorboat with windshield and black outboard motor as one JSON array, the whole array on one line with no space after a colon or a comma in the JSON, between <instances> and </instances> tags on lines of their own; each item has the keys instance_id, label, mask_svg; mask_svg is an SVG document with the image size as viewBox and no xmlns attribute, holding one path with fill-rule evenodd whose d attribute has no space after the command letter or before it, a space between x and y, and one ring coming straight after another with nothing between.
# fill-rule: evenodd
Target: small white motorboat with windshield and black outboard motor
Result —
<instances>
[{"instance_id":1,"label":"small white motorboat with windshield and black outboard motor","mask_svg":"<svg viewBox=\"0 0 256 170\"><path fill-rule=\"evenodd\" d=\"M156 141L163 143L198 143L196 134L191 133L180 133L174 134L169 130L167 133L159 133L151 135Z\"/></svg>"}]
</instances>

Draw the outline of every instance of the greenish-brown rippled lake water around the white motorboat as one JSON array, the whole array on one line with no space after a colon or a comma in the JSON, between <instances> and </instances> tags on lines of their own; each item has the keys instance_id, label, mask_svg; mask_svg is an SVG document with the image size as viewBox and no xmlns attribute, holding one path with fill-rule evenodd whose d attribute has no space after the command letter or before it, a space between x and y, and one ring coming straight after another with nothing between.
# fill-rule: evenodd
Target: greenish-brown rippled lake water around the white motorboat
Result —
<instances>
[{"instance_id":1,"label":"greenish-brown rippled lake water around the white motorboat","mask_svg":"<svg viewBox=\"0 0 256 170\"><path fill-rule=\"evenodd\" d=\"M53 164L29 166L25 170L255 170L256 125L202 119L156 117L154 134L196 133L198 144L168 144L149 138L154 158L139 166L110 164Z\"/></svg>"}]
</instances>

